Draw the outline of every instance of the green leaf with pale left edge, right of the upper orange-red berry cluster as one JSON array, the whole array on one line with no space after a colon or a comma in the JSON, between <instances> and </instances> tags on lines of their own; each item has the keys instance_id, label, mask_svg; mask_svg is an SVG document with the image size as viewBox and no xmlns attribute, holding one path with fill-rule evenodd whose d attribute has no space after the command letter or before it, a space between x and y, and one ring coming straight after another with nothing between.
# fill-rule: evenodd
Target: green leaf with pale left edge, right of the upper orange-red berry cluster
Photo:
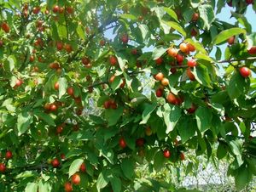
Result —
<instances>
[{"instance_id":1,"label":"green leaf with pale left edge, right of the upper orange-red berry cluster","mask_svg":"<svg viewBox=\"0 0 256 192\"><path fill-rule=\"evenodd\" d=\"M200 84L206 86L207 88L212 88L211 85L211 78L209 76L209 72L207 70L207 66L204 65L198 65L194 67L193 74L195 76L195 79Z\"/></svg>"}]
</instances>

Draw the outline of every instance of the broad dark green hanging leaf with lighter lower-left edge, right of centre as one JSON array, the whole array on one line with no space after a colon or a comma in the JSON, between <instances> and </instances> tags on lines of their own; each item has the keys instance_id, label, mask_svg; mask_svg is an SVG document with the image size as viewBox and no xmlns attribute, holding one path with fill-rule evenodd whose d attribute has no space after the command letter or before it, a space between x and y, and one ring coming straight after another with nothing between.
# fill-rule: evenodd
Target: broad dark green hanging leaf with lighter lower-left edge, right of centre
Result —
<instances>
[{"instance_id":1,"label":"broad dark green hanging leaf with lighter lower-left edge, right of centre","mask_svg":"<svg viewBox=\"0 0 256 192\"><path fill-rule=\"evenodd\" d=\"M195 111L195 119L199 130L205 132L211 127L212 111L201 106Z\"/></svg>"}]
</instances>

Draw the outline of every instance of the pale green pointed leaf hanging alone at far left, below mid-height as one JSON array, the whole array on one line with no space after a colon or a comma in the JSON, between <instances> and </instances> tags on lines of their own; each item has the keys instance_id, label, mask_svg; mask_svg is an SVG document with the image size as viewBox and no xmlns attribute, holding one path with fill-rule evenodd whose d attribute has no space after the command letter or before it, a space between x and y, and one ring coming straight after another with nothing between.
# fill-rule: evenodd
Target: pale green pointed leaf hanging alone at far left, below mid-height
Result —
<instances>
[{"instance_id":1,"label":"pale green pointed leaf hanging alone at far left, below mid-height","mask_svg":"<svg viewBox=\"0 0 256 192\"><path fill-rule=\"evenodd\" d=\"M27 128L32 123L33 119L30 115L29 111L24 110L18 115L18 121L17 121L17 128L18 128L18 135L25 133Z\"/></svg>"}]
</instances>

